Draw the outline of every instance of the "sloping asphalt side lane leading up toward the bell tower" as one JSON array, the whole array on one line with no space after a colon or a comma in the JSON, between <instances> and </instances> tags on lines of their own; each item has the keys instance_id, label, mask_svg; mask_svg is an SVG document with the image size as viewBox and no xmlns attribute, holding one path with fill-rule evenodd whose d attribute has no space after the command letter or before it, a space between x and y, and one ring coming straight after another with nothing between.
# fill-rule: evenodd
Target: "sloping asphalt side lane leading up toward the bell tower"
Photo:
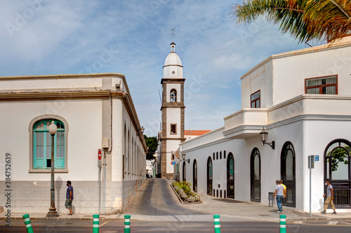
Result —
<instances>
[{"instance_id":1,"label":"sloping asphalt side lane leading up toward the bell tower","mask_svg":"<svg viewBox=\"0 0 351 233\"><path fill-rule=\"evenodd\" d=\"M166 179L147 179L126 213L149 216L208 214L184 208Z\"/></svg>"}]
</instances>

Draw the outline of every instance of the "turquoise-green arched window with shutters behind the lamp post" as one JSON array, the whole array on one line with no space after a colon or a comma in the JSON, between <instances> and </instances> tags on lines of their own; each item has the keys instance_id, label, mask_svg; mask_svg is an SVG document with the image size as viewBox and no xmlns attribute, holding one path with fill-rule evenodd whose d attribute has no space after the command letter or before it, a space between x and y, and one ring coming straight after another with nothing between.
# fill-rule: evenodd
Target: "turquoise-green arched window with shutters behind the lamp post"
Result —
<instances>
[{"instance_id":1,"label":"turquoise-green arched window with shutters behind the lamp post","mask_svg":"<svg viewBox=\"0 0 351 233\"><path fill-rule=\"evenodd\" d=\"M33 156L34 169L51 168L51 134L48 127L52 119L40 120L34 124L33 129ZM65 169L65 125L54 120L58 132L54 136L54 162L55 169Z\"/></svg>"}]
</instances>

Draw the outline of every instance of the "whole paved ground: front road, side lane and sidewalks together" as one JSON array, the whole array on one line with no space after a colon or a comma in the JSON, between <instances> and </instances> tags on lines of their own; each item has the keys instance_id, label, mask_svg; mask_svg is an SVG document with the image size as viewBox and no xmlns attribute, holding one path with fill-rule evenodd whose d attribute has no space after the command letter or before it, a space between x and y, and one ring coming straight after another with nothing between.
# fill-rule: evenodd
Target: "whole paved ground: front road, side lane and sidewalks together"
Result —
<instances>
[{"instance_id":1,"label":"whole paved ground: front road, side lane and sidewalks together","mask_svg":"<svg viewBox=\"0 0 351 233\"><path fill-rule=\"evenodd\" d=\"M202 195L202 204L180 204L171 180L147 179L126 213L132 232L213 232L213 214L220 214L221 232L279 232L277 206L238 202ZM26 232L24 213L12 213L11 228L0 218L0 232ZM285 207L289 232L351 232L351 213L322 215ZM46 213L29 213L34 232L92 232L92 216L62 213L46 219ZM100 215L100 232L124 232L124 214Z\"/></svg>"}]
</instances>

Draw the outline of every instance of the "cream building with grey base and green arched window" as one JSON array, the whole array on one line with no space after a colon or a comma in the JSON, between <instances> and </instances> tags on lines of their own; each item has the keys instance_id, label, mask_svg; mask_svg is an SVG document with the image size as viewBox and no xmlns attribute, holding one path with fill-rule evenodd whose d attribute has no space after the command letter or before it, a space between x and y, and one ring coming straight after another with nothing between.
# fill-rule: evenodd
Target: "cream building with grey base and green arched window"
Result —
<instances>
[{"instance_id":1,"label":"cream building with grey base and green arched window","mask_svg":"<svg viewBox=\"0 0 351 233\"><path fill-rule=\"evenodd\" d=\"M58 126L54 162L59 213L67 212L68 180L74 187L74 212L99 213L99 148L105 148L107 164L106 213L123 212L145 181L146 144L122 74L0 77L0 112L0 201L5 203L9 184L13 212L48 212L52 120ZM11 155L11 183L5 183L6 153Z\"/></svg>"}]
</instances>

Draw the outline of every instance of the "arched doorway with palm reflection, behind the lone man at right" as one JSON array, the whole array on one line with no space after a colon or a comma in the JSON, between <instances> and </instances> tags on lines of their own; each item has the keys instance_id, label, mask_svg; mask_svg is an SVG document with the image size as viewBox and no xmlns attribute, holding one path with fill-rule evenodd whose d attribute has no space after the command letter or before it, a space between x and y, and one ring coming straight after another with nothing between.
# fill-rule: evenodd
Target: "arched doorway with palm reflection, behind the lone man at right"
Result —
<instances>
[{"instance_id":1,"label":"arched doorway with palm reflection, behind the lone man at right","mask_svg":"<svg viewBox=\"0 0 351 233\"><path fill-rule=\"evenodd\" d=\"M345 139L331 141L324 150L324 179L330 179L333 202L341 208L351 206L350 154L351 143Z\"/></svg>"}]
</instances>

